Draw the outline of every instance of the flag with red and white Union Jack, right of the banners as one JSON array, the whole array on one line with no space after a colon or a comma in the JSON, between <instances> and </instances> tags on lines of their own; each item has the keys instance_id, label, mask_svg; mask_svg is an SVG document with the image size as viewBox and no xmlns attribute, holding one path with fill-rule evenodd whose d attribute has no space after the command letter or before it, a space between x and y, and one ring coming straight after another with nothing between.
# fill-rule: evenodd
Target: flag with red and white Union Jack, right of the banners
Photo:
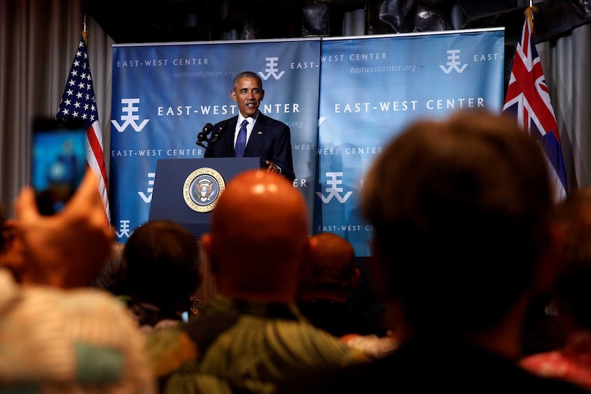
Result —
<instances>
[{"instance_id":1,"label":"flag with red and white Union Jack, right of the banners","mask_svg":"<svg viewBox=\"0 0 591 394\"><path fill-rule=\"evenodd\" d=\"M535 49L532 8L526 11L523 31L517 43L503 112L514 116L525 132L534 136L548 158L556 201L566 197L566 171L556 116Z\"/></svg>"}]
</instances>

